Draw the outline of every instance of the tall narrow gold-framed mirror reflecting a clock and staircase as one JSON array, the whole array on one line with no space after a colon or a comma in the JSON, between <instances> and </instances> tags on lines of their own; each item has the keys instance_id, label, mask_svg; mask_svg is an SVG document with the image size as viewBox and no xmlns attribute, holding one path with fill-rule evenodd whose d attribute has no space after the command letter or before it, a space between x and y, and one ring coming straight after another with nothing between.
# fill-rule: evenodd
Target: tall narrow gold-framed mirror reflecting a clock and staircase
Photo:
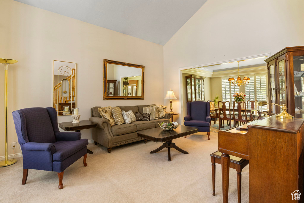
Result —
<instances>
[{"instance_id":1,"label":"tall narrow gold-framed mirror reflecting a clock and staircase","mask_svg":"<svg viewBox=\"0 0 304 203\"><path fill-rule=\"evenodd\" d=\"M53 61L53 107L58 116L72 114L76 107L76 63Z\"/></svg>"}]
</instances>

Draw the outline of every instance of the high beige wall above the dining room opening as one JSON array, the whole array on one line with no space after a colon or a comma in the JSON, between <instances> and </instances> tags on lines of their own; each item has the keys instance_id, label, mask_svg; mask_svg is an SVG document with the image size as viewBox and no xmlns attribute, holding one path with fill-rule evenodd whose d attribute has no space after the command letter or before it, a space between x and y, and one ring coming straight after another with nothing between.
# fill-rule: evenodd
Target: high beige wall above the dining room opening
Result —
<instances>
[{"instance_id":1,"label":"high beige wall above the dining room opening","mask_svg":"<svg viewBox=\"0 0 304 203\"><path fill-rule=\"evenodd\" d=\"M179 68L304 45L303 10L303 0L207 1L164 45L164 89L170 86L179 98Z\"/></svg>"}]
</instances>

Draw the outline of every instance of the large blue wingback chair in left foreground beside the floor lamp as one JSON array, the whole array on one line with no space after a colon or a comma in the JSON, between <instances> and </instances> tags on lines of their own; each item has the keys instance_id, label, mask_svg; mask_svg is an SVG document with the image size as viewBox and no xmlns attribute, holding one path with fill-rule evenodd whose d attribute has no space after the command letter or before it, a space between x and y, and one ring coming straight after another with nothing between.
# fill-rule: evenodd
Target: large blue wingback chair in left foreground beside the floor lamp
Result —
<instances>
[{"instance_id":1,"label":"large blue wingback chair in left foreground beside the floor lamp","mask_svg":"<svg viewBox=\"0 0 304 203\"><path fill-rule=\"evenodd\" d=\"M63 188L64 170L82 156L87 166L88 139L80 132L59 132L54 108L27 108L13 113L18 142L23 154L22 185L29 169L56 171L59 189Z\"/></svg>"}]
</instances>

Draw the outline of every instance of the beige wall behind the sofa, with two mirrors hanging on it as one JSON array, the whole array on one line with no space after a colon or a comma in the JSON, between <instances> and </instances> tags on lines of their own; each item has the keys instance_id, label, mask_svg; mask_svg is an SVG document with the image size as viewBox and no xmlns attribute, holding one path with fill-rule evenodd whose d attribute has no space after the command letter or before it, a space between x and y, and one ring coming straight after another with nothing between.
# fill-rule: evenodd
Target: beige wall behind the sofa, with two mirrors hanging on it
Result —
<instances>
[{"instance_id":1,"label":"beige wall behind the sofa, with two mirrors hanging on it","mask_svg":"<svg viewBox=\"0 0 304 203\"><path fill-rule=\"evenodd\" d=\"M164 104L163 46L12 0L0 1L0 57L19 62L9 66L9 152L18 141L11 112L52 106L52 60L77 63L77 106L81 120L90 107ZM103 59L145 65L145 100L102 100ZM4 68L0 65L0 81ZM4 86L0 85L0 115ZM72 121L59 116L58 122ZM82 130L92 139L92 130ZM15 153L19 153L19 145ZM4 156L4 117L0 116L0 158ZM3 159L3 157L2 157Z\"/></svg>"}]
</instances>

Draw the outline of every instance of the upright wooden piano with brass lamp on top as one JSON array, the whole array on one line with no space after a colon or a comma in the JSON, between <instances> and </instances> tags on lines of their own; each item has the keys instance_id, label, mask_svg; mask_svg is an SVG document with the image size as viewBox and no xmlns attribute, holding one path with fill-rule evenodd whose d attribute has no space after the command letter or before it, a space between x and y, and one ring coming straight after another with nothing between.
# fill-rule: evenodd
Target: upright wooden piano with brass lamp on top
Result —
<instances>
[{"instance_id":1,"label":"upright wooden piano with brass lamp on top","mask_svg":"<svg viewBox=\"0 0 304 203\"><path fill-rule=\"evenodd\" d=\"M238 127L248 132L219 131L223 202L228 202L229 155L249 160L249 202L295 202L291 193L303 193L304 120L274 115Z\"/></svg>"}]
</instances>

